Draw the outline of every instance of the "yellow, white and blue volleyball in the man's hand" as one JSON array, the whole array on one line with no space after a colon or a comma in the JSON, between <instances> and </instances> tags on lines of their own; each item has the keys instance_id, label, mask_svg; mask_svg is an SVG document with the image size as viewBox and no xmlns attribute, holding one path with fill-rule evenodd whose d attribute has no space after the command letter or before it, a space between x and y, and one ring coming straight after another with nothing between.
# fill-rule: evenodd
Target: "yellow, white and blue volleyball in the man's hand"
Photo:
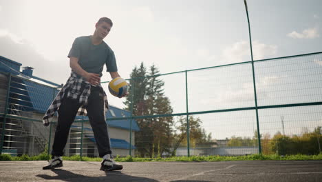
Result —
<instances>
[{"instance_id":1,"label":"yellow, white and blue volleyball in the man's hand","mask_svg":"<svg viewBox=\"0 0 322 182\"><path fill-rule=\"evenodd\" d=\"M115 97L121 97L127 92L127 81L121 77L116 77L109 82L109 92Z\"/></svg>"}]
</instances>

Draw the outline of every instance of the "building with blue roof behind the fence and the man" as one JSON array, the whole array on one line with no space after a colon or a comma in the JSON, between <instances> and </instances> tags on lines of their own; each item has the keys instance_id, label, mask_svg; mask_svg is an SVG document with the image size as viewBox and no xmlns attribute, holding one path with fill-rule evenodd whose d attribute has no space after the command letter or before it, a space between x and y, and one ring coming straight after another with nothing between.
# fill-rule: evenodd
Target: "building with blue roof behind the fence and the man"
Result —
<instances>
[{"instance_id":1,"label":"building with blue roof behind the fence and the man","mask_svg":"<svg viewBox=\"0 0 322 182\"><path fill-rule=\"evenodd\" d=\"M6 114L2 149L17 152L18 155L39 154L45 150L47 143L51 141L52 144L54 139L56 125L52 125L53 130L50 134L50 127L44 127L40 121L62 85L35 77L32 75L34 68L29 66L23 67L20 72L21 65L21 63L0 56L0 122L2 121L2 125ZM10 79L9 75L11 75ZM10 94L6 110L9 80ZM130 112L113 105L109 105L109 108L106 121L109 126L112 151L114 154L127 156L131 149L131 153L134 154L135 132L140 130L138 124L133 119L111 120L116 117L130 117ZM83 130L82 123L79 121L84 121ZM129 142L130 132L132 134L131 144ZM81 140L83 140L82 147ZM81 148L83 155L98 156L96 141L87 117L76 117L76 122L73 123L69 133L65 154L81 154Z\"/></svg>"}]
</instances>

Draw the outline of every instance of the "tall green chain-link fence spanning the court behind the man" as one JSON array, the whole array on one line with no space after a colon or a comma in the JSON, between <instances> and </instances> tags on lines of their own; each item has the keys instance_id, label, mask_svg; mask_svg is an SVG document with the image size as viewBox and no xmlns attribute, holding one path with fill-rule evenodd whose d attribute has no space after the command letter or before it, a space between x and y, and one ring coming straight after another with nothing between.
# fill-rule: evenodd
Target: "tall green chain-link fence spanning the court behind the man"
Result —
<instances>
[{"instance_id":1,"label":"tall green chain-link fence spanning the court behind the man","mask_svg":"<svg viewBox=\"0 0 322 182\"><path fill-rule=\"evenodd\" d=\"M56 123L44 127L41 117L59 88L0 76L2 154L50 154ZM321 152L322 52L168 74L138 67L131 77L128 97L107 92L114 154ZM69 132L65 155L74 154L98 156L87 117L77 117Z\"/></svg>"}]
</instances>

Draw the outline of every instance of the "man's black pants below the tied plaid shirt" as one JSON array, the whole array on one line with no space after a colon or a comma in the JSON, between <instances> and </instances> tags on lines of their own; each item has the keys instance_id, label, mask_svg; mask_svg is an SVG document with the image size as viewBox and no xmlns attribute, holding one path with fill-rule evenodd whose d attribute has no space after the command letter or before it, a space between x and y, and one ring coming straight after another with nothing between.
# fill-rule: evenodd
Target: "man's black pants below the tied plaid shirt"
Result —
<instances>
[{"instance_id":1,"label":"man's black pants below the tied plaid shirt","mask_svg":"<svg viewBox=\"0 0 322 182\"><path fill-rule=\"evenodd\" d=\"M107 133L107 124L105 122L104 100L99 92L100 90L98 87L93 86L91 88L86 110L87 116L89 117L89 123L91 123L94 132L98 153L100 157L103 157L105 154L111 154L111 148L109 134ZM67 92L65 92L61 106L58 109L58 122L54 144L52 145L52 156L63 156L63 150L67 143L70 126L72 125L80 106L78 99L67 98Z\"/></svg>"}]
</instances>

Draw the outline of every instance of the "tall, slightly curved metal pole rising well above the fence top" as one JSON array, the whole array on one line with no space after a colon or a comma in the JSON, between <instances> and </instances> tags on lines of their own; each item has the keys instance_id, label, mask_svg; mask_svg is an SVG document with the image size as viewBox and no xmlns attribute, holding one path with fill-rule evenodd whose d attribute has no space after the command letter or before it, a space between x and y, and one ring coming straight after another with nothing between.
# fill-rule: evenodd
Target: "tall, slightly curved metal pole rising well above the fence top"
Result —
<instances>
[{"instance_id":1,"label":"tall, slightly curved metal pole rising well above the fence top","mask_svg":"<svg viewBox=\"0 0 322 182\"><path fill-rule=\"evenodd\" d=\"M249 32L249 43L250 43L250 56L252 58L252 70L253 70L253 83L254 83L254 94L255 94L255 110L256 110L256 120L257 120L257 136L258 136L258 150L259 154L261 154L261 134L259 132L259 119L258 119L258 108L257 108L257 94L256 94L256 82L255 82L255 69L254 69L254 59L253 59L253 46L252 46L252 37L250 35L250 23L248 17L248 8L247 2L244 0L246 14L247 14L247 21L248 21L248 32Z\"/></svg>"}]
</instances>

